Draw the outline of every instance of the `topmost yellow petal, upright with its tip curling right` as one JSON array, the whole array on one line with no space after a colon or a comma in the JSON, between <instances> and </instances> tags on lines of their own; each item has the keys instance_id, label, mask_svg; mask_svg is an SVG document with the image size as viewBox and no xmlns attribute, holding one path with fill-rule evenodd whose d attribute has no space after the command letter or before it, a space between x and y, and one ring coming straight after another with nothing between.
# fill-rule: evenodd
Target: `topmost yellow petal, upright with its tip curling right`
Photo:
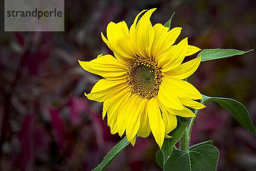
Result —
<instances>
[{"instance_id":1,"label":"topmost yellow petal, upright with its tip curling right","mask_svg":"<svg viewBox=\"0 0 256 171\"><path fill-rule=\"evenodd\" d=\"M136 26L136 43L137 50L141 57L148 58L150 55L151 45L154 40L154 29L149 20L151 14L156 9L148 10L138 21Z\"/></svg>"}]
</instances>

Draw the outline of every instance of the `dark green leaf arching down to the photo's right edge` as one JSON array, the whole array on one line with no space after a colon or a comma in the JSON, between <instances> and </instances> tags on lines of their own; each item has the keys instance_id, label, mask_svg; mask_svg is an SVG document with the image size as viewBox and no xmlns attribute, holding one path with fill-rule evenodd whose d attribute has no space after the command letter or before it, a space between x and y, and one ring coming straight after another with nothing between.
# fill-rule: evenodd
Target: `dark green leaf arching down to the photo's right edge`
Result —
<instances>
[{"instance_id":1,"label":"dark green leaf arching down to the photo's right edge","mask_svg":"<svg viewBox=\"0 0 256 171\"><path fill-rule=\"evenodd\" d=\"M203 96L202 103L205 104L208 101L216 101L221 107L229 110L232 116L246 128L250 130L250 132L256 134L255 128L253 126L253 122L250 118L250 115L247 109L241 104L239 101L227 98L220 98L220 97L208 97Z\"/></svg>"}]
</instances>

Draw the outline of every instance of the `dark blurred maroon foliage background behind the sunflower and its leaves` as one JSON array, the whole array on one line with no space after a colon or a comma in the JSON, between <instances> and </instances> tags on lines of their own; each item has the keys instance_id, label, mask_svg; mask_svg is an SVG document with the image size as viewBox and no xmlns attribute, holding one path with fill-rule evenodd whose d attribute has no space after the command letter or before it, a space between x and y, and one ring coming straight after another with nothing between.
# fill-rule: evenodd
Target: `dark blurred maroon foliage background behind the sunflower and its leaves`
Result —
<instances>
[{"instance_id":1,"label":"dark blurred maroon foliage background behind the sunflower and its leaves","mask_svg":"<svg viewBox=\"0 0 256 171\"><path fill-rule=\"evenodd\" d=\"M3 1L1 1L3 13ZM99 76L77 59L112 54L102 41L110 21L131 26L143 9L152 24L182 27L178 41L201 49L256 49L255 0L65 0L65 32L0 32L0 170L89 171L121 140L89 93ZM3 23L3 20L2 20ZM197 54L196 54L197 55ZM186 57L186 60L196 55ZM256 51L202 62L189 82L207 96L236 99L256 123ZM215 102L200 110L191 145L213 140L218 171L255 171L256 136ZM152 134L137 138L108 171L160 171Z\"/></svg>"}]
</instances>

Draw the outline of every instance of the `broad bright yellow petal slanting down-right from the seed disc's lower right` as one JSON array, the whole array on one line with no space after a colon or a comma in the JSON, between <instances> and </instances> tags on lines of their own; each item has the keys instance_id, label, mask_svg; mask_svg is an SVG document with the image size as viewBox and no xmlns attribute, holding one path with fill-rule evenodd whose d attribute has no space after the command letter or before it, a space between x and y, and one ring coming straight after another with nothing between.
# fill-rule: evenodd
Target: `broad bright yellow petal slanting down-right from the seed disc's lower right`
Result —
<instances>
[{"instance_id":1,"label":"broad bright yellow petal slanting down-right from the seed disc's lower right","mask_svg":"<svg viewBox=\"0 0 256 171\"><path fill-rule=\"evenodd\" d=\"M182 110L184 107L177 96L172 93L172 89L173 87L168 87L166 81L162 79L157 96L164 106Z\"/></svg>"}]
</instances>

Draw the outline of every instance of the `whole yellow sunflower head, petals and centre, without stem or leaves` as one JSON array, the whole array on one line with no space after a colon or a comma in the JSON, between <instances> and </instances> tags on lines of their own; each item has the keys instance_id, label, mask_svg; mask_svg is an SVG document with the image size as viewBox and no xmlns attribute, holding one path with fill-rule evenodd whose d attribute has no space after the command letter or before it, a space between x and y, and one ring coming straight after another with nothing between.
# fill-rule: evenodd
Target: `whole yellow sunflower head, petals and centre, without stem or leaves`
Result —
<instances>
[{"instance_id":1,"label":"whole yellow sunflower head, petals and centre, without stem or leaves","mask_svg":"<svg viewBox=\"0 0 256 171\"><path fill-rule=\"evenodd\" d=\"M101 35L115 57L101 54L79 64L103 77L85 96L103 102L102 118L107 114L111 133L122 136L125 132L134 145L136 135L147 137L152 131L161 148L164 137L171 138L167 134L177 126L176 115L195 117L187 107L205 106L195 101L202 99L199 91L183 81L197 70L201 57L185 63L183 59L201 49L188 45L188 38L173 45L182 28L152 26L155 10L140 12L130 30L125 21L110 22L107 38Z\"/></svg>"}]
</instances>

